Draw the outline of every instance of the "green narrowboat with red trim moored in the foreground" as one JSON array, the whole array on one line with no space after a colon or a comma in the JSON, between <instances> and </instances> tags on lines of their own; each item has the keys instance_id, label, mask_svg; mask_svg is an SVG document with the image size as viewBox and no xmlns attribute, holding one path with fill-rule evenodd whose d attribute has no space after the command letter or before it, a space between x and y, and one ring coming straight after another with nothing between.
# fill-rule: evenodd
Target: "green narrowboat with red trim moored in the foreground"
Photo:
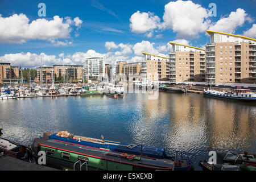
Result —
<instances>
[{"instance_id":1,"label":"green narrowboat with red trim moored in the foreground","mask_svg":"<svg viewBox=\"0 0 256 182\"><path fill-rule=\"evenodd\" d=\"M109 152L98 148L77 147L73 144L65 144L56 141L47 141L40 144L40 150L46 152L47 161L50 164L73 168L76 164L85 163L83 166L101 169L106 171L137 171L137 170L172 170L173 162L166 160L163 166L157 163L158 159L141 159L133 160L122 158L121 153ZM148 161L154 162L149 165ZM77 163L78 162L78 163ZM79 165L79 164L78 164ZM188 169L186 167L184 169ZM85 169L85 168L83 168Z\"/></svg>"}]
</instances>

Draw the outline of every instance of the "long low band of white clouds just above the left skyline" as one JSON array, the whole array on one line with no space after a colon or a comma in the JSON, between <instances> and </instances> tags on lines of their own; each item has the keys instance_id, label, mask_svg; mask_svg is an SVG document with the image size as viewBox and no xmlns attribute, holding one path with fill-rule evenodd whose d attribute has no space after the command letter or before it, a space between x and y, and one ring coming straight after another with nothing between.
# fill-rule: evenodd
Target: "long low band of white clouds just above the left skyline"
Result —
<instances>
[{"instance_id":1,"label":"long low band of white clouds just above the left skyline","mask_svg":"<svg viewBox=\"0 0 256 182\"><path fill-rule=\"evenodd\" d=\"M150 43L148 41L142 41L134 45L131 44L115 44L112 42L112 46L115 45L116 51L109 51L107 53L98 53L92 49L86 52L75 52L72 55L67 55L64 53L59 53L59 55L46 55L45 53L9 53L0 56L0 62L8 62L11 65L19 66L23 68L36 68L40 67L40 58L42 55L42 63L46 66L52 66L55 64L75 64L82 65L84 60L88 57L103 57L106 58L106 63L116 64L116 61L127 61L127 63L136 62L143 60L143 55L141 52L152 53L155 55L166 56L167 45L155 47L155 43Z\"/></svg>"}]
</instances>

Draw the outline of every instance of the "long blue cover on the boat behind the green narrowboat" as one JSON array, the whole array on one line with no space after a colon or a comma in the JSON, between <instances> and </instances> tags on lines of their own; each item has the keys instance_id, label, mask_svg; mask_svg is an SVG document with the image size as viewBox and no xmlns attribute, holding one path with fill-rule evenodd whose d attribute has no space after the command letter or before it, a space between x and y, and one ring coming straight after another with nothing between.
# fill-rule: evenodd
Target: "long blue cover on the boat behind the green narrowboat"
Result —
<instances>
[{"instance_id":1,"label":"long blue cover on the boat behind the green narrowboat","mask_svg":"<svg viewBox=\"0 0 256 182\"><path fill-rule=\"evenodd\" d=\"M63 142L80 144L80 145L94 147L94 148L105 148L105 149L108 148L110 151L122 152L127 154L141 155L141 145L138 145L134 148L129 148L127 146L129 146L130 143L123 143L123 142L120 142L120 143L118 142L118 145L116 142L113 142L113 144L111 144L112 142L109 142L109 141L108 143L110 144L105 144L104 142L102 142L102 144L93 143L93 142L87 142L83 140L79 142L79 140L76 140L76 139L57 137L56 134L57 133L51 135L49 139L60 140ZM163 159L166 156L164 151L165 149L162 147L142 146L142 155L150 156L151 158Z\"/></svg>"}]
</instances>

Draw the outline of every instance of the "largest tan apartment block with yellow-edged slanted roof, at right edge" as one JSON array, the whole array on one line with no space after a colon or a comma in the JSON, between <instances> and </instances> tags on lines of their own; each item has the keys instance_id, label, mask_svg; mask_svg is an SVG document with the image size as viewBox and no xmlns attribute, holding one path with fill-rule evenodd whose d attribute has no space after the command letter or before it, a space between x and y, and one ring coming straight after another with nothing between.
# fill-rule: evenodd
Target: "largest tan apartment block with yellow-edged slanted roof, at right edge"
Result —
<instances>
[{"instance_id":1,"label":"largest tan apartment block with yellow-edged slanted roof, at right edge","mask_svg":"<svg viewBox=\"0 0 256 182\"><path fill-rule=\"evenodd\" d=\"M256 39L206 30L208 85L223 83L256 83Z\"/></svg>"}]
</instances>

